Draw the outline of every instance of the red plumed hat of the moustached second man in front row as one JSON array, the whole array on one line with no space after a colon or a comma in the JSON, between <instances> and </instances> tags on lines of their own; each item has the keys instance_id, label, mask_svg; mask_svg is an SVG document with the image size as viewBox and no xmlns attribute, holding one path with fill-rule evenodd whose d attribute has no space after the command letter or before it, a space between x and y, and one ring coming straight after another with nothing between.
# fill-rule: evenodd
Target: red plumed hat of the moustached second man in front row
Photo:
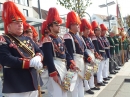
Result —
<instances>
[{"instance_id":1,"label":"red plumed hat of the moustached second man in front row","mask_svg":"<svg viewBox=\"0 0 130 97\"><path fill-rule=\"evenodd\" d=\"M47 25L50 25L52 23L62 23L62 19L60 18L60 15L58 13L58 10L54 7L50 8L47 15Z\"/></svg>"}]
</instances>

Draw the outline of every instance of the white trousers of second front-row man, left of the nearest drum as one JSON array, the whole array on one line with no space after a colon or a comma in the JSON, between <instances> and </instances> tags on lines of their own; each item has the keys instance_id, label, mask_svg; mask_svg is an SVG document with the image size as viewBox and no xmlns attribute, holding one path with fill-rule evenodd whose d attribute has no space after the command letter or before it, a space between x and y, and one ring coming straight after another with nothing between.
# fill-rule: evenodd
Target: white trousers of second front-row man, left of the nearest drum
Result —
<instances>
[{"instance_id":1,"label":"white trousers of second front-row man, left of the nearest drum","mask_svg":"<svg viewBox=\"0 0 130 97\"><path fill-rule=\"evenodd\" d=\"M59 82L61 83L60 78ZM49 77L47 85L49 97L67 97L67 92L62 91L61 87L53 80L52 77Z\"/></svg>"}]
</instances>

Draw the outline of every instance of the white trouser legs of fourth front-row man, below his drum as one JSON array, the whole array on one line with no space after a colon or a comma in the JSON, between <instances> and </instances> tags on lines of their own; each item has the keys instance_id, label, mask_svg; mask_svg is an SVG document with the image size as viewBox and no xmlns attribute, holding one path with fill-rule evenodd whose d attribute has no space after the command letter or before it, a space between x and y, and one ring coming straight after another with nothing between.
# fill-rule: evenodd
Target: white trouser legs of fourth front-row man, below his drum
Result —
<instances>
[{"instance_id":1,"label":"white trouser legs of fourth front-row man, below his drum","mask_svg":"<svg viewBox=\"0 0 130 97\"><path fill-rule=\"evenodd\" d=\"M84 85L85 85L85 90L89 90L90 88L94 88L95 84L94 84L94 76L93 73L91 73L91 77L89 80L84 80Z\"/></svg>"}]
</instances>

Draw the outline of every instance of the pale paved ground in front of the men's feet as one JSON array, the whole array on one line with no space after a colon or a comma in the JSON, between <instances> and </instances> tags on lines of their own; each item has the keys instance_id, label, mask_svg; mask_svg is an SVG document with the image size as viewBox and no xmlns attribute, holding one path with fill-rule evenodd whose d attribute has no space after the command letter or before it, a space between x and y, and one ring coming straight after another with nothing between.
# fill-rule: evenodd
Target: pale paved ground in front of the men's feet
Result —
<instances>
[{"instance_id":1,"label":"pale paved ground in front of the men's feet","mask_svg":"<svg viewBox=\"0 0 130 97\"><path fill-rule=\"evenodd\" d=\"M127 62L116 75L111 75L113 78L108 81L104 87L100 87L99 91L94 91L94 95L86 94L84 97L130 97L130 82L124 82L125 78L130 78L130 61ZM46 87L43 87L45 94L43 97L48 97ZM2 97L2 82L0 80L0 97ZM68 93L68 97L70 93Z\"/></svg>"}]
</instances>

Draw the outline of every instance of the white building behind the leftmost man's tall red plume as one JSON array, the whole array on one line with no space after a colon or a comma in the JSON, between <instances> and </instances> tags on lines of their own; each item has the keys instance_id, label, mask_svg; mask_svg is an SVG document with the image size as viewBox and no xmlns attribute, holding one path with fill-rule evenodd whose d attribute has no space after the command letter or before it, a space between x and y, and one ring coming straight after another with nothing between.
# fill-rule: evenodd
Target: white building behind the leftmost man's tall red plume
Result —
<instances>
[{"instance_id":1,"label":"white building behind the leftmost man's tall red plume","mask_svg":"<svg viewBox=\"0 0 130 97\"><path fill-rule=\"evenodd\" d=\"M4 33L4 26L3 26L1 14L3 10L3 3L6 1L7 0L0 0L0 34ZM19 10L26 17L26 22L28 22L30 25L36 26L39 23L40 24L42 23L42 20L34 18L32 0L10 0L10 1L13 1L17 5Z\"/></svg>"}]
</instances>

